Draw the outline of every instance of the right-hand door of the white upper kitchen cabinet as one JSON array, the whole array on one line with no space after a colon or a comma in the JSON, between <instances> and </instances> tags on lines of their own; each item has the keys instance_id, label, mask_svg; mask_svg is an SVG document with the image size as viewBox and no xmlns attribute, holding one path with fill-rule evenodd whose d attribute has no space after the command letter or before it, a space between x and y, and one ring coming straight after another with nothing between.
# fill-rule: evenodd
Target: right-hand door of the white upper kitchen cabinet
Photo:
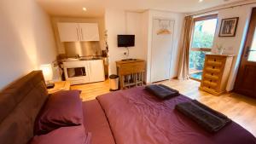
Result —
<instances>
[{"instance_id":1,"label":"right-hand door of the white upper kitchen cabinet","mask_svg":"<svg viewBox=\"0 0 256 144\"><path fill-rule=\"evenodd\" d=\"M100 41L97 23L79 23L81 41Z\"/></svg>"}]
</instances>

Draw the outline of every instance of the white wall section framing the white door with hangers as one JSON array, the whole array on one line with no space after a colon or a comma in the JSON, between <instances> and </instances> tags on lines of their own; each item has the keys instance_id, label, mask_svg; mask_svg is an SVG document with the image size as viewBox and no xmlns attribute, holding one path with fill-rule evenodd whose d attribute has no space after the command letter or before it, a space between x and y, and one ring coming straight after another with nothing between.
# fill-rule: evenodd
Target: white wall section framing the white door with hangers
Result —
<instances>
[{"instance_id":1,"label":"white wall section framing the white door with hangers","mask_svg":"<svg viewBox=\"0 0 256 144\"><path fill-rule=\"evenodd\" d=\"M180 42L183 28L183 19L184 14L158 11L158 10L149 10L148 11L148 60L147 60L147 83L150 83L150 65L151 65L151 44L152 44L152 28L153 28L153 19L154 18L163 18L168 20L174 20L174 33L173 33L173 44L172 44L172 63L171 63L171 78L177 77L177 68L180 54Z\"/></svg>"}]
</instances>

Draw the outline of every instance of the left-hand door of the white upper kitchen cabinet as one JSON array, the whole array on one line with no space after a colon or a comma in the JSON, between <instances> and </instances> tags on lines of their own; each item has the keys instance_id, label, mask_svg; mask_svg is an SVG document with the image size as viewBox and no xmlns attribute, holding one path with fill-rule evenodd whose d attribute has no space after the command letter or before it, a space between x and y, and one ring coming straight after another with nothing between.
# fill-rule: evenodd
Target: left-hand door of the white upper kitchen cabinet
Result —
<instances>
[{"instance_id":1,"label":"left-hand door of the white upper kitchen cabinet","mask_svg":"<svg viewBox=\"0 0 256 144\"><path fill-rule=\"evenodd\" d=\"M61 42L77 42L80 40L77 23L58 23L58 30Z\"/></svg>"}]
</instances>

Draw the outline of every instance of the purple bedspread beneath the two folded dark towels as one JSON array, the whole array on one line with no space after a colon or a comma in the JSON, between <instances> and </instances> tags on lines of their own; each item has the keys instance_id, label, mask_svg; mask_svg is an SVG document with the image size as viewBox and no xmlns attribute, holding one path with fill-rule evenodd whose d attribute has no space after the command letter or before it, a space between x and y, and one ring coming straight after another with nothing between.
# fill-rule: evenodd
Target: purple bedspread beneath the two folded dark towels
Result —
<instances>
[{"instance_id":1,"label":"purple bedspread beneath the two folded dark towels","mask_svg":"<svg viewBox=\"0 0 256 144\"><path fill-rule=\"evenodd\" d=\"M207 133L175 110L191 101L180 95L160 101L143 87L100 95L117 144L256 144L255 137L231 122L216 134Z\"/></svg>"}]
</instances>

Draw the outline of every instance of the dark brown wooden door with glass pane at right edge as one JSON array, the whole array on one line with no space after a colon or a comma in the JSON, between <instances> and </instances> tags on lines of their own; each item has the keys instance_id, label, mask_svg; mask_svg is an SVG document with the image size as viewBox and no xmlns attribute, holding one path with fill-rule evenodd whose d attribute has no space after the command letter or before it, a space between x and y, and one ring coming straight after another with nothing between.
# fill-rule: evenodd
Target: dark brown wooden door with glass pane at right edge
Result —
<instances>
[{"instance_id":1,"label":"dark brown wooden door with glass pane at right edge","mask_svg":"<svg viewBox=\"0 0 256 144\"><path fill-rule=\"evenodd\" d=\"M236 77L235 92L256 98L256 8L253 9Z\"/></svg>"}]
</instances>

